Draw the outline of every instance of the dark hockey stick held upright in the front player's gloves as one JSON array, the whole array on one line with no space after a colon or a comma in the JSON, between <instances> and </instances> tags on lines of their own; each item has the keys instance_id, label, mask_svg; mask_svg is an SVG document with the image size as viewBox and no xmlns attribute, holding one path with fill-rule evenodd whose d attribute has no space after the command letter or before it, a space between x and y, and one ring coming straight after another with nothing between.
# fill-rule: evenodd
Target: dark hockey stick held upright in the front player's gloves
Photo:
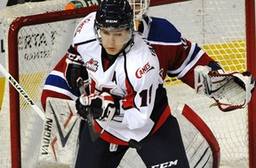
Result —
<instances>
[{"instance_id":1,"label":"dark hockey stick held upright in the front player's gloves","mask_svg":"<svg viewBox=\"0 0 256 168\"><path fill-rule=\"evenodd\" d=\"M83 79L78 78L76 80L76 84L77 84L77 87L79 88L79 91L80 91L81 95L84 95L86 92L85 92L85 88L84 88ZM95 128L94 128L94 119L93 119L93 116L92 116L91 108L87 108L86 119L87 119L87 122L88 122L89 132L90 132L92 141L96 141L100 137L100 134L102 134L105 131L106 127L108 126L108 124L110 122L110 120L114 117L114 114L115 114L115 111L110 112L110 114L108 116L108 119L107 119L107 122L106 122L106 125L102 128L102 130L100 132L97 133L95 131Z\"/></svg>"}]
</instances>

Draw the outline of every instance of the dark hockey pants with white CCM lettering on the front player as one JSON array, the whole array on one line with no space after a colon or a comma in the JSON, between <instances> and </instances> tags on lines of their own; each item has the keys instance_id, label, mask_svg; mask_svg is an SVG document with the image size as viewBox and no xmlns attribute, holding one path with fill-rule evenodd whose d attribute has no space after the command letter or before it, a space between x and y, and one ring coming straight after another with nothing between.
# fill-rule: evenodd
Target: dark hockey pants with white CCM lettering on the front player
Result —
<instances>
[{"instance_id":1,"label":"dark hockey pants with white CCM lettering on the front player","mask_svg":"<svg viewBox=\"0 0 256 168\"><path fill-rule=\"evenodd\" d=\"M142 146L138 154L147 167L189 168L180 127L172 115L155 134L148 135L140 143ZM116 168L128 148L119 145L115 152L110 152L107 141L99 138L92 142L85 123L80 136L76 168Z\"/></svg>"}]
</instances>

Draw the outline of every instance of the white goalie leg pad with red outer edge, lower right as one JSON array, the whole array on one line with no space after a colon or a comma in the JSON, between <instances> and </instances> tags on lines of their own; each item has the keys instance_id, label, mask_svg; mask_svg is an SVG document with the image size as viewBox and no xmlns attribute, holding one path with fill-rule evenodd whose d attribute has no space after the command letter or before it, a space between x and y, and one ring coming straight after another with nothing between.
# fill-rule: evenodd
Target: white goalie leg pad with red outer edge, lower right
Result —
<instances>
[{"instance_id":1,"label":"white goalie leg pad with red outer edge, lower right","mask_svg":"<svg viewBox=\"0 0 256 168\"><path fill-rule=\"evenodd\" d=\"M220 146L211 129L187 104L178 103L173 115L178 119L190 167L220 166Z\"/></svg>"}]
</instances>

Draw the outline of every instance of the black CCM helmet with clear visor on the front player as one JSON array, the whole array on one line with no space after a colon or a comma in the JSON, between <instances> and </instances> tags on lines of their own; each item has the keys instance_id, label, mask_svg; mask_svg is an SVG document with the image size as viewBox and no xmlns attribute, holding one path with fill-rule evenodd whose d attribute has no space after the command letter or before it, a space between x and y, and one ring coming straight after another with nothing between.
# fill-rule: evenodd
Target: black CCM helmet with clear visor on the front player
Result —
<instances>
[{"instance_id":1,"label":"black CCM helmet with clear visor on the front player","mask_svg":"<svg viewBox=\"0 0 256 168\"><path fill-rule=\"evenodd\" d=\"M121 38L116 35L116 41L124 44L132 39L133 33L133 12L126 0L104 0L96 12L94 31L101 43L100 29L108 31L126 30Z\"/></svg>"}]
</instances>

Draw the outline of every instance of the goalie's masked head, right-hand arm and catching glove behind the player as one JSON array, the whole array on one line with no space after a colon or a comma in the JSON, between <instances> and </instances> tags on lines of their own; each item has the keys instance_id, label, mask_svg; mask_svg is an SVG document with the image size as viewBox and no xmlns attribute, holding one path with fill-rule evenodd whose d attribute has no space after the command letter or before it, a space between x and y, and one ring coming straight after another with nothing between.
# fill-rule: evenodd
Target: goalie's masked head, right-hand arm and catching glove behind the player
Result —
<instances>
[{"instance_id":1,"label":"goalie's masked head, right-hand arm and catching glove behind the player","mask_svg":"<svg viewBox=\"0 0 256 168\"><path fill-rule=\"evenodd\" d=\"M156 50L163 79L166 73L177 77L196 93L213 98L221 111L244 108L250 102L255 85L250 72L224 73L216 61L195 42L183 38L168 20L149 17L149 0L130 0L130 4L135 12L135 29Z\"/></svg>"}]
</instances>

